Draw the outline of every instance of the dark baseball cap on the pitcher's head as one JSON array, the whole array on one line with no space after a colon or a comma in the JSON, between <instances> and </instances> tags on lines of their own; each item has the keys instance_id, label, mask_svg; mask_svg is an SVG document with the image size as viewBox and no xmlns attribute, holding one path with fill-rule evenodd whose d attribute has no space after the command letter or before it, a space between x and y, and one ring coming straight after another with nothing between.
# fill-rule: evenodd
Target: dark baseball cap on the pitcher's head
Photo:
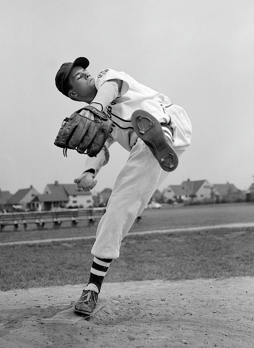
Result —
<instances>
[{"instance_id":1,"label":"dark baseball cap on the pitcher's head","mask_svg":"<svg viewBox=\"0 0 254 348\"><path fill-rule=\"evenodd\" d=\"M86 69L88 65L89 65L89 61L85 57L79 57L75 59L73 63L64 63L59 69L59 71L57 72L56 79L55 79L56 87L58 88L58 90L60 90L60 92L62 92L64 95L68 96L67 94L68 91L65 90L65 81L68 75L70 74L72 68L76 66L80 66Z\"/></svg>"}]
</instances>

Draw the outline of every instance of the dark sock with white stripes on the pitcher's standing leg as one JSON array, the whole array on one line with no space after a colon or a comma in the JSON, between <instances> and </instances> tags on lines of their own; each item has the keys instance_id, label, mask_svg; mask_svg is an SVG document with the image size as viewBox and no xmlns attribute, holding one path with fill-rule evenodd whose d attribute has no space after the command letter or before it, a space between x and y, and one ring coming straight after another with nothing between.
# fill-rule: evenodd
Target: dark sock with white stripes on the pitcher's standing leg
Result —
<instances>
[{"instance_id":1,"label":"dark sock with white stripes on the pitcher's standing leg","mask_svg":"<svg viewBox=\"0 0 254 348\"><path fill-rule=\"evenodd\" d=\"M100 292L102 281L106 275L111 261L112 259L100 259L94 256L90 270L90 278L85 290L93 290L95 292L98 291L98 293ZM94 285L97 289L94 287Z\"/></svg>"}]
</instances>

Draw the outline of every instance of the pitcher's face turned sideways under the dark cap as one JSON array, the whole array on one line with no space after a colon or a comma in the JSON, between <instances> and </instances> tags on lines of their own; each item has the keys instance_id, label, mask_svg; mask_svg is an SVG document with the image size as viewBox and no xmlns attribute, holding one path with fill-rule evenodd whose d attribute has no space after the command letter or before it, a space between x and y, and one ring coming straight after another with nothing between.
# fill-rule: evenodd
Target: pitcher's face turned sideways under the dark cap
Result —
<instances>
[{"instance_id":1,"label":"pitcher's face turned sideways under the dark cap","mask_svg":"<svg viewBox=\"0 0 254 348\"><path fill-rule=\"evenodd\" d=\"M95 97L97 89L94 85L94 78L92 78L84 68L78 66L73 67L69 74L69 81L73 87L71 91L69 91L69 96L87 103L90 103Z\"/></svg>"}]
</instances>

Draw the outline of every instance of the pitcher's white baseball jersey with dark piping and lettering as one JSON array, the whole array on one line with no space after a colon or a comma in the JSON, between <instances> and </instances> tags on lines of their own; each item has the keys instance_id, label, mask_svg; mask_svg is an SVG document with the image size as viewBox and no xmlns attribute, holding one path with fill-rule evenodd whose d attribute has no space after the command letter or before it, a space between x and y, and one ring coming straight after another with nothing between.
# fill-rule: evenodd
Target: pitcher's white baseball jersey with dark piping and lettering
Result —
<instances>
[{"instance_id":1,"label":"pitcher's white baseball jersey with dark piping and lettering","mask_svg":"<svg viewBox=\"0 0 254 348\"><path fill-rule=\"evenodd\" d=\"M118 96L103 110L114 122L111 132L112 142L117 141L126 150L131 151L138 138L131 124L131 116L135 110L144 109L156 117L160 123L170 124L173 129L174 147L182 149L188 147L189 141L186 142L186 134L183 134L182 129L180 132L176 129L178 124L182 128L182 117L185 118L186 126L187 123L189 123L188 126L190 125L190 121L182 108L178 107L185 114L174 122L175 117L179 118L179 111L176 112L177 115L173 115L175 112L169 107L173 104L170 103L166 95L138 83L124 72L117 72L113 69L102 70L95 78L95 87L99 89L104 82L110 80L120 81Z\"/></svg>"}]
</instances>

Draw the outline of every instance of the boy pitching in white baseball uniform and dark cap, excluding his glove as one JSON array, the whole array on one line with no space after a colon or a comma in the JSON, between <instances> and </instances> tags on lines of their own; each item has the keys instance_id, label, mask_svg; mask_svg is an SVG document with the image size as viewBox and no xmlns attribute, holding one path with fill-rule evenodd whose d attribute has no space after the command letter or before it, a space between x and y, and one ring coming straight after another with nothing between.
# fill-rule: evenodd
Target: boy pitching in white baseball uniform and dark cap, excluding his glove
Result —
<instances>
[{"instance_id":1,"label":"boy pitching in white baseball uniform and dark cap, excluding his glove","mask_svg":"<svg viewBox=\"0 0 254 348\"><path fill-rule=\"evenodd\" d=\"M94 178L107 164L108 148L114 142L130 155L97 227L90 277L75 304L75 311L82 314L93 312L107 269L119 257L122 240L156 189L175 170L191 140L186 112L167 96L112 69L100 71L94 79L87 71L88 65L84 57L64 63L55 79L64 95L103 111L113 122L102 150L96 157L87 158L84 173L74 180L78 189L94 186ZM81 114L89 112L82 110Z\"/></svg>"}]
</instances>

